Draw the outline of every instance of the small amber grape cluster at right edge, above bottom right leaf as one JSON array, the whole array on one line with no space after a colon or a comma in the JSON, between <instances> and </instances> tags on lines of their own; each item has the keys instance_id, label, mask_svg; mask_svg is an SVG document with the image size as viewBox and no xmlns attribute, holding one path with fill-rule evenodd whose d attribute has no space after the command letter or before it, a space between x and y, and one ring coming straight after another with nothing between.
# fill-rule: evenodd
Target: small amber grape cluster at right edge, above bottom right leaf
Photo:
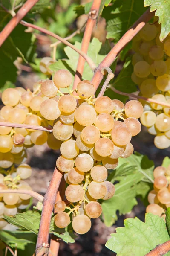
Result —
<instances>
[{"instance_id":1,"label":"small amber grape cluster at right edge, above bottom right leaf","mask_svg":"<svg viewBox=\"0 0 170 256\"><path fill-rule=\"evenodd\" d=\"M167 168L158 166L153 171L153 190L148 194L146 212L164 217L164 213L170 207L170 166Z\"/></svg>"}]
</instances>

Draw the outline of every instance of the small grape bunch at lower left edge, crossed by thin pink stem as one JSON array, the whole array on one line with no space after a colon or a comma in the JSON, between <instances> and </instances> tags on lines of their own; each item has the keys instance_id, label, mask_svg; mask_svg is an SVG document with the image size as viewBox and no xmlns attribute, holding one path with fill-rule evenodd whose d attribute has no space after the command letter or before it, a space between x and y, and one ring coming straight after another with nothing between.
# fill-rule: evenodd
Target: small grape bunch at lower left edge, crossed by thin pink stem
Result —
<instances>
[{"instance_id":1,"label":"small grape bunch at lower left edge, crossed by thin pink stem","mask_svg":"<svg viewBox=\"0 0 170 256\"><path fill-rule=\"evenodd\" d=\"M5 175L3 175L3 172ZM0 191L13 190L32 190L25 179L32 174L31 167L23 163L17 168L12 166L8 171L0 169ZM3 215L14 216L23 209L26 209L30 203L30 195L19 193L0 193L0 229L8 224L2 217Z\"/></svg>"}]
</instances>

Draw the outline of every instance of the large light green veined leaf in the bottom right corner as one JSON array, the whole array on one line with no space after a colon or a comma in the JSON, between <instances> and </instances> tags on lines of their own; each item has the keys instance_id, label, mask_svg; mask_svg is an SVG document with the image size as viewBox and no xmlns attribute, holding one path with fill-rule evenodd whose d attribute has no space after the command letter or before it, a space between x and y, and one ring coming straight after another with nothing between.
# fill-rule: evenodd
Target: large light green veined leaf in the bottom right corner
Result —
<instances>
[{"instance_id":1,"label":"large light green veined leaf in the bottom right corner","mask_svg":"<svg viewBox=\"0 0 170 256\"><path fill-rule=\"evenodd\" d=\"M145 222L138 218L124 220L124 227L118 227L111 236L106 247L117 256L144 256L170 239L164 219L151 213L145 215Z\"/></svg>"}]
</instances>

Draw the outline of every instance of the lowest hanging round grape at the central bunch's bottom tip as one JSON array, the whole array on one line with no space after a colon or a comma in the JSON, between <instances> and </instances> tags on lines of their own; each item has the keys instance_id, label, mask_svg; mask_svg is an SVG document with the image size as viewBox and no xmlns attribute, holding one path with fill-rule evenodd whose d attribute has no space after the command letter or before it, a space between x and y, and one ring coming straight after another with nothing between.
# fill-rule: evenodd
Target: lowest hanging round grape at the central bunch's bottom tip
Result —
<instances>
[{"instance_id":1,"label":"lowest hanging round grape at the central bunch's bottom tip","mask_svg":"<svg viewBox=\"0 0 170 256\"><path fill-rule=\"evenodd\" d=\"M91 221L86 215L77 215L72 221L73 230L80 235L87 233L91 226Z\"/></svg>"}]
</instances>

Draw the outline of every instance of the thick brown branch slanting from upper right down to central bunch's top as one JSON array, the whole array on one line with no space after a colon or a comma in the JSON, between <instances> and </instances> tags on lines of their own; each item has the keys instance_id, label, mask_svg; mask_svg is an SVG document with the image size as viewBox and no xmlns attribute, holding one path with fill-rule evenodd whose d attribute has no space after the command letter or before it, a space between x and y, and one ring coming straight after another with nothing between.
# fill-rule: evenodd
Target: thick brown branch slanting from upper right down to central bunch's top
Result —
<instances>
[{"instance_id":1,"label":"thick brown branch slanting from upper right down to central bunch's top","mask_svg":"<svg viewBox=\"0 0 170 256\"><path fill-rule=\"evenodd\" d=\"M116 56L121 52L121 50L133 39L133 37L144 27L144 25L155 15L154 12L150 12L147 9L143 15L133 24L133 26L122 36L118 43L110 50L104 60L99 64L95 70L95 74L92 77L92 84L95 85L97 90L101 80L103 79L103 74L101 70L106 67L110 67Z\"/></svg>"}]
</instances>

